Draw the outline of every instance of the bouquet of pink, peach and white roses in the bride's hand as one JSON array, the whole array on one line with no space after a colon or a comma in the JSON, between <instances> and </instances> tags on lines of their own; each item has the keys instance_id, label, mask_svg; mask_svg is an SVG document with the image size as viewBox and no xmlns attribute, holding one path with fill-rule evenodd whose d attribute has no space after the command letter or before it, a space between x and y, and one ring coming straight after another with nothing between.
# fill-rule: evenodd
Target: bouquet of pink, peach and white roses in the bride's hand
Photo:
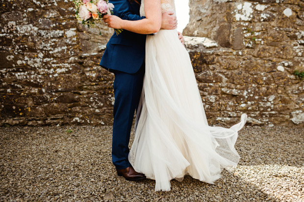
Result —
<instances>
[{"instance_id":1,"label":"bouquet of pink, peach and white roses in the bride's hand","mask_svg":"<svg viewBox=\"0 0 304 202\"><path fill-rule=\"evenodd\" d=\"M76 18L83 26L94 27L96 22L102 21L104 15L113 15L113 3L109 0L73 0L76 8ZM122 29L115 29L120 34Z\"/></svg>"}]
</instances>

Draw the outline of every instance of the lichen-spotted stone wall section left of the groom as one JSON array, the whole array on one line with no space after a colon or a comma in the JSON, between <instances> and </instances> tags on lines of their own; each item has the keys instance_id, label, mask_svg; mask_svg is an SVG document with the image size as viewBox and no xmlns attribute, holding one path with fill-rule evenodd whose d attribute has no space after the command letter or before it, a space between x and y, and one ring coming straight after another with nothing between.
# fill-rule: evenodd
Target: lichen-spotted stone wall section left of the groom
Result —
<instances>
[{"instance_id":1,"label":"lichen-spotted stone wall section left of the groom","mask_svg":"<svg viewBox=\"0 0 304 202\"><path fill-rule=\"evenodd\" d=\"M0 124L111 124L114 75L99 62L112 30L77 24L72 0L0 9Z\"/></svg>"}]
</instances>

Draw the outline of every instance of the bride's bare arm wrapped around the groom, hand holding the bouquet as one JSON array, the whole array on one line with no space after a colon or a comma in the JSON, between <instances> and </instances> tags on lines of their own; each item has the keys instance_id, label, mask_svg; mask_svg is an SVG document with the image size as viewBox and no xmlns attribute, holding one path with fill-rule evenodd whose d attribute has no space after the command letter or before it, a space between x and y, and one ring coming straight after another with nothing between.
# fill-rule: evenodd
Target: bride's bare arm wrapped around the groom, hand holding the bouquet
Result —
<instances>
[{"instance_id":1,"label":"bride's bare arm wrapped around the groom, hand holding the bouquet","mask_svg":"<svg viewBox=\"0 0 304 202\"><path fill-rule=\"evenodd\" d=\"M139 21L122 20L117 16L104 16L104 22L115 29L126 29L138 34L152 34L158 32L161 27L160 0L145 0L146 18Z\"/></svg>"}]
</instances>

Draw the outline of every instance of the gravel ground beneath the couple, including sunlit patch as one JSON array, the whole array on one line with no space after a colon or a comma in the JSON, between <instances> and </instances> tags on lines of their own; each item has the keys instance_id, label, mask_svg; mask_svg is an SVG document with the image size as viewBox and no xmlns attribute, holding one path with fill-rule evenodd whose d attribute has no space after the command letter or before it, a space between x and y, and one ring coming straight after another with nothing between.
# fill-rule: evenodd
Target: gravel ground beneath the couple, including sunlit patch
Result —
<instances>
[{"instance_id":1,"label":"gravel ground beneath the couple, including sunlit patch","mask_svg":"<svg viewBox=\"0 0 304 202\"><path fill-rule=\"evenodd\" d=\"M304 201L304 128L246 126L237 139L237 167L223 170L214 185L189 176L172 180L170 192L154 192L153 180L116 175L111 132L0 128L0 201Z\"/></svg>"}]
</instances>

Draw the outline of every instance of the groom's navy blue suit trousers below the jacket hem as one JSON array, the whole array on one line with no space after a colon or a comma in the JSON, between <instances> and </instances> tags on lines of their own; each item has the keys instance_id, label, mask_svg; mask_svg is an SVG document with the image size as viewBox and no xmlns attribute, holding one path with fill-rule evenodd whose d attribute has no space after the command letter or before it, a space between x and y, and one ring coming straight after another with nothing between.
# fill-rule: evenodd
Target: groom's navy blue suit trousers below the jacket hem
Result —
<instances>
[{"instance_id":1,"label":"groom's navy blue suit trousers below the jacket hem","mask_svg":"<svg viewBox=\"0 0 304 202\"><path fill-rule=\"evenodd\" d=\"M130 132L143 88L145 63L136 73L112 70L114 80L114 121L112 161L117 169L130 166L128 161Z\"/></svg>"}]
</instances>

